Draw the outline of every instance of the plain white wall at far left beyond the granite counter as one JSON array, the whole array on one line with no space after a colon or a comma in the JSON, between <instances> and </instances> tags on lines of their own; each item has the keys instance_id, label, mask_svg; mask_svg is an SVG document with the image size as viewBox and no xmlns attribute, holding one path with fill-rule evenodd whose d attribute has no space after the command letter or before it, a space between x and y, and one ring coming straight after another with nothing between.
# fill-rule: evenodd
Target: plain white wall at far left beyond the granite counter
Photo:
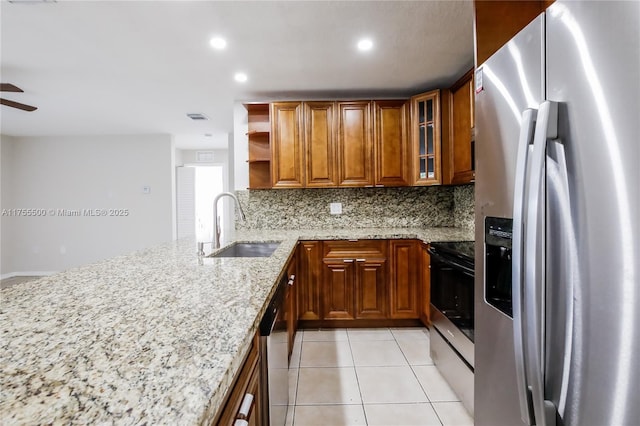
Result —
<instances>
[{"instance_id":1,"label":"plain white wall at far left beyond the granite counter","mask_svg":"<svg viewBox=\"0 0 640 426\"><path fill-rule=\"evenodd\" d=\"M3 215L2 276L60 271L171 240L170 135L3 136L0 147L2 209L47 211ZM80 216L62 216L60 209ZM92 217L83 209L128 215Z\"/></svg>"}]
</instances>

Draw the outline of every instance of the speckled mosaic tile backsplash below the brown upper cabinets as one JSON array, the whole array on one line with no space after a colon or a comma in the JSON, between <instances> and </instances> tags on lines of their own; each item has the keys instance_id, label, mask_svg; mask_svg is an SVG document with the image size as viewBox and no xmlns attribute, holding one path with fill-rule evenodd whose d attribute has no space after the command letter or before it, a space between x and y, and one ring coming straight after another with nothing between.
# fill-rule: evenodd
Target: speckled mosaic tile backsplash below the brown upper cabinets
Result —
<instances>
[{"instance_id":1,"label":"speckled mosaic tile backsplash below the brown upper cabinets","mask_svg":"<svg viewBox=\"0 0 640 426\"><path fill-rule=\"evenodd\" d=\"M466 223L455 218L455 192L442 186L237 191L247 220L236 229L453 227ZM461 192L464 208L469 194ZM342 214L330 214L330 203L342 203Z\"/></svg>"}]
</instances>

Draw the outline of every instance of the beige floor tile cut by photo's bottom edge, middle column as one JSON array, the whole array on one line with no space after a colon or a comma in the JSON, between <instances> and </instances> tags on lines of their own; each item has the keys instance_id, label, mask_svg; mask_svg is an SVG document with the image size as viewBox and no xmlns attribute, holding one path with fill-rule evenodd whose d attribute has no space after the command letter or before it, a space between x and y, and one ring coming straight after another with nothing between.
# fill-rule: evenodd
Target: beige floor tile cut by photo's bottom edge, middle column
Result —
<instances>
[{"instance_id":1,"label":"beige floor tile cut by photo's bottom edge, middle column","mask_svg":"<svg viewBox=\"0 0 640 426\"><path fill-rule=\"evenodd\" d=\"M369 426L441 426L440 419L425 402L420 404L365 404Z\"/></svg>"}]
</instances>

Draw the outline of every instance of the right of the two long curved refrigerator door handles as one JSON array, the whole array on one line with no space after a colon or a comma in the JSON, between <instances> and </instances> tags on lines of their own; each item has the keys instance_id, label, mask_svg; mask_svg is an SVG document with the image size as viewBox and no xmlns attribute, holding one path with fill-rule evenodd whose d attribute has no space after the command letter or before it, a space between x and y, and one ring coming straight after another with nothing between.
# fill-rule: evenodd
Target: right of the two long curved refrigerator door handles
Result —
<instances>
[{"instance_id":1,"label":"right of the two long curved refrigerator door handles","mask_svg":"<svg viewBox=\"0 0 640 426\"><path fill-rule=\"evenodd\" d=\"M556 407L544 395L545 312L545 160L547 140L558 134L558 104L544 101L538 109L527 194L524 256L525 361L537 426L554 426Z\"/></svg>"}]
</instances>

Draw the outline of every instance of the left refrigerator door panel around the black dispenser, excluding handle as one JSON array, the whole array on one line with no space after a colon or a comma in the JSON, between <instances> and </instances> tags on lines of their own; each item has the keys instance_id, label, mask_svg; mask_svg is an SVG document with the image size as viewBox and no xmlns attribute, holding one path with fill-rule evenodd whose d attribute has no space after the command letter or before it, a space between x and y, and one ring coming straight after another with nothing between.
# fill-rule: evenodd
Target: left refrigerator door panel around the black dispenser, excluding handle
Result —
<instances>
[{"instance_id":1,"label":"left refrigerator door panel around the black dispenser, excluding handle","mask_svg":"<svg viewBox=\"0 0 640 426\"><path fill-rule=\"evenodd\" d=\"M512 217L518 137L523 112L544 97L539 17L480 66L476 94L476 425L518 425L513 321L485 301L484 218Z\"/></svg>"}]
</instances>

